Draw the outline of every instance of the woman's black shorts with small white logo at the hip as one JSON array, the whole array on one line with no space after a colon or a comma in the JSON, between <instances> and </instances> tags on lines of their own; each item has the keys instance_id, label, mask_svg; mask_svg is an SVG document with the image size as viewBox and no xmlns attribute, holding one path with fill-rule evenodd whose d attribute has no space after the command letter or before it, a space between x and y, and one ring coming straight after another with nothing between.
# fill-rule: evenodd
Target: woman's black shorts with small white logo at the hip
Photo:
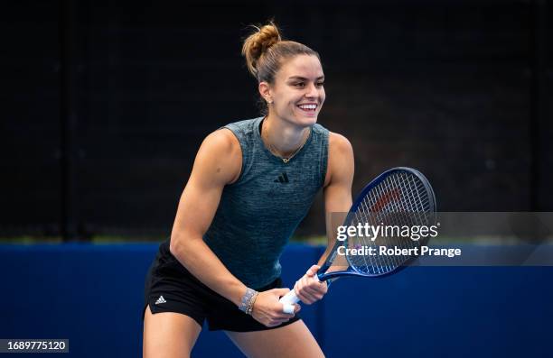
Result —
<instances>
[{"instance_id":1,"label":"woman's black shorts with small white logo at the hip","mask_svg":"<svg viewBox=\"0 0 553 358\"><path fill-rule=\"evenodd\" d=\"M161 252L162 250L160 250ZM227 298L208 288L171 254L157 253L145 279L145 307L153 314L159 312L176 312L192 317L200 326L207 319L210 331L226 330L232 332L251 332L287 326L300 317L295 317L280 326L267 327L253 317L246 315ZM259 292L267 289L282 288L278 278L266 287L258 288Z\"/></svg>"}]
</instances>

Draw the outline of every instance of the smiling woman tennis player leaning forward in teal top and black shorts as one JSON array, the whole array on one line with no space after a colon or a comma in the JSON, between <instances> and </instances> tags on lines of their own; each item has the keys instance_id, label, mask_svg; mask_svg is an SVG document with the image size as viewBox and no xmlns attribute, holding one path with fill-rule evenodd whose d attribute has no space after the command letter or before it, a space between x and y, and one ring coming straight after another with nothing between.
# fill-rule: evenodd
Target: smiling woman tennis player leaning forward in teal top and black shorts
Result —
<instances>
[{"instance_id":1,"label":"smiling woman tennis player leaning forward in teal top and black shorts","mask_svg":"<svg viewBox=\"0 0 553 358\"><path fill-rule=\"evenodd\" d=\"M189 356L204 320L249 357L323 356L300 307L286 314L278 302L289 291L279 257L320 188L327 214L349 210L353 152L316 123L325 97L317 52L282 41L274 23L256 29L242 53L266 115L202 142L171 238L146 278L146 358ZM295 283L305 304L326 293L314 279L318 268Z\"/></svg>"}]
</instances>

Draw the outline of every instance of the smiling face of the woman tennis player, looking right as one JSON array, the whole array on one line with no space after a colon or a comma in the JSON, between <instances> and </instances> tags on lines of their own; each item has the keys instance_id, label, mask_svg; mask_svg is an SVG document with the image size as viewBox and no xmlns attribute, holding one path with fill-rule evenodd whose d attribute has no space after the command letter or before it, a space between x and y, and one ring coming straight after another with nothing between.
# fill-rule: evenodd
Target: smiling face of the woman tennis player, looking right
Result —
<instances>
[{"instance_id":1,"label":"smiling face of the woman tennis player, looking right","mask_svg":"<svg viewBox=\"0 0 553 358\"><path fill-rule=\"evenodd\" d=\"M323 106L324 74L316 56L298 55L286 60L275 76L275 83L259 84L259 92L268 102L269 115L300 127L317 122Z\"/></svg>"}]
</instances>

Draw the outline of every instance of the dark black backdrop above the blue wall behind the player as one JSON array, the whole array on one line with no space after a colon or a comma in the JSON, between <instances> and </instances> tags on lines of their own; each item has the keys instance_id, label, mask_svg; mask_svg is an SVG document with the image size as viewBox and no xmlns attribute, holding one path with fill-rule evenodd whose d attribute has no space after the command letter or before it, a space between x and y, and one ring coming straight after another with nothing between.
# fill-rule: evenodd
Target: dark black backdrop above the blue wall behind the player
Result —
<instances>
[{"instance_id":1,"label":"dark black backdrop above the blue wall behind the player","mask_svg":"<svg viewBox=\"0 0 553 358\"><path fill-rule=\"evenodd\" d=\"M1 5L0 236L168 234L195 151L258 116L240 56L274 17L318 50L319 123L354 195L421 170L441 211L551 211L547 1L18 1ZM318 197L298 234L323 234Z\"/></svg>"}]
</instances>

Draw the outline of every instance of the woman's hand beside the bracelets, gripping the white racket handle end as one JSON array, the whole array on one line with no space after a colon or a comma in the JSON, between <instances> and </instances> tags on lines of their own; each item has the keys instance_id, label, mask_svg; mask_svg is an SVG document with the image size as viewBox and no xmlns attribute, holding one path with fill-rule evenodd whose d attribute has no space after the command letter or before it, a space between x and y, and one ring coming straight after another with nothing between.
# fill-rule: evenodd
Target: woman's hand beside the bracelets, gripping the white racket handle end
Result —
<instances>
[{"instance_id":1,"label":"woman's hand beside the bracelets, gripping the white racket handle end","mask_svg":"<svg viewBox=\"0 0 553 358\"><path fill-rule=\"evenodd\" d=\"M279 326L288 321L301 309L299 305L295 304L293 314L283 312L283 304L278 302L278 299L289 291L290 289L269 289L259 292L251 316L267 327Z\"/></svg>"}]
</instances>

